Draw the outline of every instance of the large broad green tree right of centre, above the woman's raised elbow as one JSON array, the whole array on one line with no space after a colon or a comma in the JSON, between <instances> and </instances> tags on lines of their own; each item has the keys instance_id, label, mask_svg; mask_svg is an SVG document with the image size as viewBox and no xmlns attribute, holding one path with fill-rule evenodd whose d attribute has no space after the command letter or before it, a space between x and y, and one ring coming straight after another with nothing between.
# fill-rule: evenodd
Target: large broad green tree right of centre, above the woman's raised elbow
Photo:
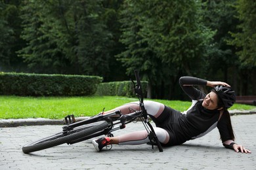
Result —
<instances>
[{"instance_id":1,"label":"large broad green tree right of centre, above the woman's raised elbow","mask_svg":"<svg viewBox=\"0 0 256 170\"><path fill-rule=\"evenodd\" d=\"M198 1L124 2L121 42L127 48L117 57L128 74L142 70L162 91L158 97L171 98L180 75L202 73L194 68L203 65L213 32L202 24L200 8Z\"/></svg>"}]
</instances>

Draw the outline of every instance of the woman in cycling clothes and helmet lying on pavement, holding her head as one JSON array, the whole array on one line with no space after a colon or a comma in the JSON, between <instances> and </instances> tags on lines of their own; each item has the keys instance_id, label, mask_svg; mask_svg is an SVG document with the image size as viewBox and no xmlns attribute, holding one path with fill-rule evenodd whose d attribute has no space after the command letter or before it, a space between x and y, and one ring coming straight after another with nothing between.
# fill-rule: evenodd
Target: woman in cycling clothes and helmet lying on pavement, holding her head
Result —
<instances>
[{"instance_id":1,"label":"woman in cycling clothes and helmet lying on pavement, holding her head","mask_svg":"<svg viewBox=\"0 0 256 170\"><path fill-rule=\"evenodd\" d=\"M230 121L228 108L235 101L235 92L225 82L207 81L192 76L183 76L179 80L182 90L192 99L191 107L179 112L155 101L144 101L148 115L156 127L154 130L162 146L173 146L185 143L190 139L202 137L217 127L221 135L223 146L236 152L251 153L244 146L234 143L234 133ZM210 93L194 88L194 85L211 86ZM127 103L113 110L121 110L128 114L131 108L139 110L139 103ZM144 144L149 143L148 132L135 131L117 137L101 137L93 141L97 151L108 144Z\"/></svg>"}]
</instances>

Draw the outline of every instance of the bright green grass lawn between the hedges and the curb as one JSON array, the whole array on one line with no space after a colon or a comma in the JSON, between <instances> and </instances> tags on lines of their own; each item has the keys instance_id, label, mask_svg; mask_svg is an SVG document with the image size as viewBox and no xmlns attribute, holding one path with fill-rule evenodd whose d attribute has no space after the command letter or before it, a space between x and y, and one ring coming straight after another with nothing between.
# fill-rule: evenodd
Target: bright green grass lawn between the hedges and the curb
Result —
<instances>
[{"instance_id":1,"label":"bright green grass lawn between the hedges and the curb","mask_svg":"<svg viewBox=\"0 0 256 170\"><path fill-rule=\"evenodd\" d=\"M156 100L173 109L186 110L190 107L188 101ZM138 101L136 98L119 96L92 97L18 97L0 96L0 118L51 118L60 119L68 114L77 116L93 116L119 105ZM250 110L256 107L235 104L231 109Z\"/></svg>"}]
</instances>

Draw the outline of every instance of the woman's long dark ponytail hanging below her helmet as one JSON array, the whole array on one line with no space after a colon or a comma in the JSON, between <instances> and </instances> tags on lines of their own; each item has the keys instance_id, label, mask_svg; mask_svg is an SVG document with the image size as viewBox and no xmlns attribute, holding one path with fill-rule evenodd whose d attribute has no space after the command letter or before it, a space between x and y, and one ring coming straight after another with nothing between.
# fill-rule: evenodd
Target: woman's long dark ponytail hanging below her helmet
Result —
<instances>
[{"instance_id":1,"label":"woman's long dark ponytail hanging below her helmet","mask_svg":"<svg viewBox=\"0 0 256 170\"><path fill-rule=\"evenodd\" d=\"M217 102L217 107L221 108L223 107L223 118L227 121L228 123L228 132L230 134L231 139L234 141L235 137L234 137L234 131L233 131L233 127L231 124L231 119L230 119L230 113L228 112L228 109L226 109L226 107L224 106L223 100L221 99L221 97L218 95L218 93L216 92L215 88L213 88L211 90L211 92L215 92L218 96L218 102Z\"/></svg>"}]
</instances>

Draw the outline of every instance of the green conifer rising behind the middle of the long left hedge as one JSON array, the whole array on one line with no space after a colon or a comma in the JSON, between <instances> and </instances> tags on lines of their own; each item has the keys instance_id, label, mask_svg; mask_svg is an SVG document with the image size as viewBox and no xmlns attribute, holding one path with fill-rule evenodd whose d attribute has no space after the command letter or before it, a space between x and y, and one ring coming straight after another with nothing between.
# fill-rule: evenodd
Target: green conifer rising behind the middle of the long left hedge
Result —
<instances>
[{"instance_id":1,"label":"green conifer rising behind the middle of the long left hedge","mask_svg":"<svg viewBox=\"0 0 256 170\"><path fill-rule=\"evenodd\" d=\"M53 30L56 20L51 15L51 5L52 1L24 1L22 4L21 37L27 45L18 54L35 73L58 73L62 59L62 52L57 48L58 33Z\"/></svg>"}]
</instances>

